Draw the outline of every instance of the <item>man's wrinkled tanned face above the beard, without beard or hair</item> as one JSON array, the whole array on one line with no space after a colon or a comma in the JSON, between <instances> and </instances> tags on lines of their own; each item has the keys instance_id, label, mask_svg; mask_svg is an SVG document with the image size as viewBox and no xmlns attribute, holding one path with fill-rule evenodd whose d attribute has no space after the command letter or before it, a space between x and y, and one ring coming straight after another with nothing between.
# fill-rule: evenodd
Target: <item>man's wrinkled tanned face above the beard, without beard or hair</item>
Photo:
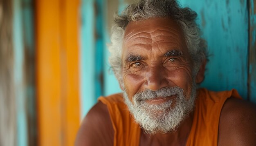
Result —
<instances>
[{"instance_id":1,"label":"man's wrinkled tanned face above the beard, without beard or hair","mask_svg":"<svg viewBox=\"0 0 256 146\"><path fill-rule=\"evenodd\" d=\"M192 61L180 27L171 19L130 22L125 30L122 69L130 100L138 92L178 86L189 98ZM166 100L149 100L159 104Z\"/></svg>"}]
</instances>

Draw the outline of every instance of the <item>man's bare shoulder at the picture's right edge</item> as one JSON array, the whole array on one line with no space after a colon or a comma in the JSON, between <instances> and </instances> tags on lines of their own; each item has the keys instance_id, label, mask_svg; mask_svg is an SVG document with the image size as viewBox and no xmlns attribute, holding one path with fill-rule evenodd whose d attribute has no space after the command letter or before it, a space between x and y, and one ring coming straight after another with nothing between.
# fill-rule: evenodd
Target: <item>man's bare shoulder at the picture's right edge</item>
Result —
<instances>
[{"instance_id":1,"label":"man's bare shoulder at the picture's right edge","mask_svg":"<svg viewBox=\"0 0 256 146\"><path fill-rule=\"evenodd\" d=\"M219 146L256 145L256 106L245 100L229 98L222 107Z\"/></svg>"}]
</instances>

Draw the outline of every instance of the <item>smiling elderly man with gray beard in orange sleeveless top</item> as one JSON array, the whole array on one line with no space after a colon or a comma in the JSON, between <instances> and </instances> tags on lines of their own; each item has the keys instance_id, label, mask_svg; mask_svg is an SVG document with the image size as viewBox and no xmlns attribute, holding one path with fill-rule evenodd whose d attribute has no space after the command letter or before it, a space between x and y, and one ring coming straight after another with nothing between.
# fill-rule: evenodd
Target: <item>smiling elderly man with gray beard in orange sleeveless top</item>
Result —
<instances>
[{"instance_id":1,"label":"smiling elderly man with gray beard in orange sleeveless top","mask_svg":"<svg viewBox=\"0 0 256 146\"><path fill-rule=\"evenodd\" d=\"M196 89L207 60L196 17L175 0L140 0L115 17L109 60L124 92L99 98L77 146L256 145L254 105Z\"/></svg>"}]
</instances>

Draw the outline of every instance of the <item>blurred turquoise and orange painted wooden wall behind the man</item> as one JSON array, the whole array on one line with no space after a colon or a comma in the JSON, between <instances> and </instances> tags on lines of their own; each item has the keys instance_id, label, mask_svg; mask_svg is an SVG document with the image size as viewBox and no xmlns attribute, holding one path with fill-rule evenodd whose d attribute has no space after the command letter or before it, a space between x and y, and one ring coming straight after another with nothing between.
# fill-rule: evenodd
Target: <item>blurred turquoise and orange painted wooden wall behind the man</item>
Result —
<instances>
[{"instance_id":1,"label":"blurred turquoise and orange painted wooden wall behind the man","mask_svg":"<svg viewBox=\"0 0 256 146\"><path fill-rule=\"evenodd\" d=\"M132 0L0 0L0 146L72 146L100 95L120 92L106 44ZM256 103L255 0L180 0L198 13L201 84Z\"/></svg>"}]
</instances>

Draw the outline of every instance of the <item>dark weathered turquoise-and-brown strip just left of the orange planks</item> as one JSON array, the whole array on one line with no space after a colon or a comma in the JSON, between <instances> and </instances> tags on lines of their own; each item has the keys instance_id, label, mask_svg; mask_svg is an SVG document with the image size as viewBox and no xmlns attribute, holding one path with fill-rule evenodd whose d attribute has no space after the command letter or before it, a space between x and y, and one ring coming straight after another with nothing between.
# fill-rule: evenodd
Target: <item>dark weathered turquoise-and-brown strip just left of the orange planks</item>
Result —
<instances>
[{"instance_id":1,"label":"dark weathered turquoise-and-brown strip just left of the orange planks","mask_svg":"<svg viewBox=\"0 0 256 146\"><path fill-rule=\"evenodd\" d=\"M26 110L28 146L35 146L37 139L35 94L35 40L34 9L32 0L22 0L23 40L25 54Z\"/></svg>"}]
</instances>

